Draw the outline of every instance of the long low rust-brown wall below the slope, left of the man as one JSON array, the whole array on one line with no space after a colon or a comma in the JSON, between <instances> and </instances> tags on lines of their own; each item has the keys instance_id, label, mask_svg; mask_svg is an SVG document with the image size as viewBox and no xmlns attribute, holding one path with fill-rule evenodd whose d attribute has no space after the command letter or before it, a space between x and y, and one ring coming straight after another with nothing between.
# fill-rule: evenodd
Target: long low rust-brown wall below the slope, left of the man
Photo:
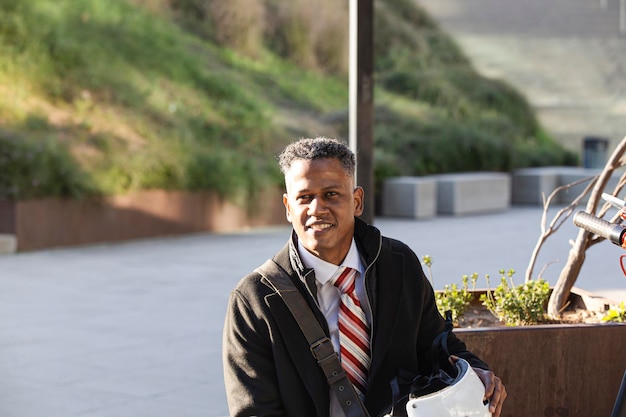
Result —
<instances>
[{"instance_id":1,"label":"long low rust-brown wall below the slope, left of the man","mask_svg":"<svg viewBox=\"0 0 626 417\"><path fill-rule=\"evenodd\" d=\"M0 201L0 235L18 251L287 224L282 191L246 208L212 192L150 190L102 199Z\"/></svg>"}]
</instances>

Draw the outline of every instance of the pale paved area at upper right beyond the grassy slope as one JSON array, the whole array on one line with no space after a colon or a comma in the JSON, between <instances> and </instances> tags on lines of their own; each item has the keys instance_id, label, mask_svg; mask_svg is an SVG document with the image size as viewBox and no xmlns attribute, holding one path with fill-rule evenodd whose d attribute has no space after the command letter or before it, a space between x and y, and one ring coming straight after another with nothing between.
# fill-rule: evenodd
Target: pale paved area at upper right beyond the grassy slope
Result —
<instances>
[{"instance_id":1,"label":"pale paved area at upper right beyond the grassy slope","mask_svg":"<svg viewBox=\"0 0 626 417\"><path fill-rule=\"evenodd\" d=\"M626 37L618 0L419 0L476 68L508 81L581 151L626 135ZM606 7L604 7L606 6Z\"/></svg>"}]
</instances>

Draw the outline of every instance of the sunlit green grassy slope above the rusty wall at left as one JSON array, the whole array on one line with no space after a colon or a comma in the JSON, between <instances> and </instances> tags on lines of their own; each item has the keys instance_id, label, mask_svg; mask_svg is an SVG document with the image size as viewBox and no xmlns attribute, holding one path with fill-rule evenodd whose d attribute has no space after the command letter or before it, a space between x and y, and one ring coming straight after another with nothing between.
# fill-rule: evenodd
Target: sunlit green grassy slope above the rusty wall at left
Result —
<instances>
[{"instance_id":1,"label":"sunlit green grassy slope above the rusty wall at left","mask_svg":"<svg viewBox=\"0 0 626 417\"><path fill-rule=\"evenodd\" d=\"M150 188L236 196L280 182L268 151L287 134L241 82L241 61L126 1L4 0L0 8L0 80L28 86L0 94L0 120L9 136L29 138L4 141L0 198ZM218 60L235 70L214 70ZM18 112L18 94L72 116L50 123L42 110Z\"/></svg>"}]
</instances>

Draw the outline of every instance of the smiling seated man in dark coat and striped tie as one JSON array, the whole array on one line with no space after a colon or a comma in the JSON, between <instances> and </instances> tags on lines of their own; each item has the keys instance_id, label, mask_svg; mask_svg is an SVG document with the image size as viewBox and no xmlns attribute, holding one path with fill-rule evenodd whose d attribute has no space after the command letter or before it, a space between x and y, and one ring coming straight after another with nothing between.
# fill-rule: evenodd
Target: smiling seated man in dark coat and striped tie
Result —
<instances>
[{"instance_id":1,"label":"smiling seated man in dark coat and striped tie","mask_svg":"<svg viewBox=\"0 0 626 417\"><path fill-rule=\"evenodd\" d=\"M301 139L283 150L279 163L293 232L273 260L307 299L365 407L378 416L391 402L389 383L398 370L427 372L430 365L432 341L444 329L432 287L411 249L358 219L363 189L355 186L356 161L347 146ZM344 266L356 277L352 301L342 298L338 283ZM358 324L346 325L349 316ZM363 343L344 346L348 327L362 327ZM448 348L474 368L490 412L499 416L506 397L500 379L453 333ZM231 294L223 359L231 416L344 415L292 314L257 272Z\"/></svg>"}]
</instances>

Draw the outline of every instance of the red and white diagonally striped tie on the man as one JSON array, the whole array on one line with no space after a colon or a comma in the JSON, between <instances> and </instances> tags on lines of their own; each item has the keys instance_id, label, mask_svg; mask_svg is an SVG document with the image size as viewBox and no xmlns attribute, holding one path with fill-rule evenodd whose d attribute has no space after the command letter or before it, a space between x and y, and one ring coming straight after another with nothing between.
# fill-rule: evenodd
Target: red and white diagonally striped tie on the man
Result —
<instances>
[{"instance_id":1,"label":"red and white diagonally striped tie on the man","mask_svg":"<svg viewBox=\"0 0 626 417\"><path fill-rule=\"evenodd\" d=\"M344 268L333 282L341 291L339 304L341 365L357 393L363 397L371 361L369 326L355 292L357 271L349 267Z\"/></svg>"}]
</instances>

